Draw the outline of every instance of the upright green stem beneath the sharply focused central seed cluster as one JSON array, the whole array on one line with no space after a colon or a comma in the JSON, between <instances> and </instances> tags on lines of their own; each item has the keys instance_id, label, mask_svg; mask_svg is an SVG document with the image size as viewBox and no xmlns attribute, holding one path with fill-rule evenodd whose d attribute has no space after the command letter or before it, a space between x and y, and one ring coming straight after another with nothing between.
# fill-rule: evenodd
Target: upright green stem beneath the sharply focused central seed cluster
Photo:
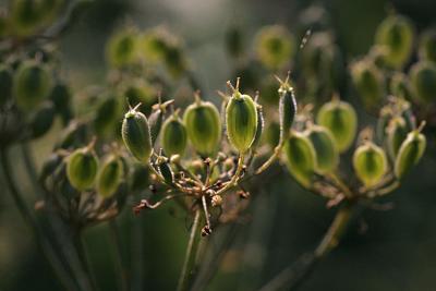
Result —
<instances>
[{"instance_id":1,"label":"upright green stem beneath the sharply focused central seed cluster","mask_svg":"<svg viewBox=\"0 0 436 291\"><path fill-rule=\"evenodd\" d=\"M195 267L195 257L201 238L201 208L195 210L194 223L191 228L190 240L187 242L186 254L184 257L182 272L180 274L178 291L185 291L190 288Z\"/></svg>"}]
</instances>

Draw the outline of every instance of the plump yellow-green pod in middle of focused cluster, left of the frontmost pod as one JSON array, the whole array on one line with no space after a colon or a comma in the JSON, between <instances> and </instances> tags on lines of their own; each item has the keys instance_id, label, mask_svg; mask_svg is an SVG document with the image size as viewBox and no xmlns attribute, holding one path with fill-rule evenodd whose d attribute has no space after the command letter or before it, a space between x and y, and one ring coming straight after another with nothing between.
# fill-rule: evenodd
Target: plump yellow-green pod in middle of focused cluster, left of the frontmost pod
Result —
<instances>
[{"instance_id":1,"label":"plump yellow-green pod in middle of focused cluster, left of the frontmost pod","mask_svg":"<svg viewBox=\"0 0 436 291\"><path fill-rule=\"evenodd\" d=\"M199 98L190 105L183 114L187 137L195 150L204 157L217 150L221 138L221 121L218 109Z\"/></svg>"}]
</instances>

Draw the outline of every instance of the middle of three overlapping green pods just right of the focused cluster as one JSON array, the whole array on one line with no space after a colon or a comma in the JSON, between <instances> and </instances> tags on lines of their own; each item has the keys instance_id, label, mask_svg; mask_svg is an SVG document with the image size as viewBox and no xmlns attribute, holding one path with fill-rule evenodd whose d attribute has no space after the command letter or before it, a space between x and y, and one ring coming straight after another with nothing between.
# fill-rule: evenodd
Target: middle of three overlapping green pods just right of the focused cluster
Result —
<instances>
[{"instance_id":1,"label":"middle of three overlapping green pods just right of the focused cluster","mask_svg":"<svg viewBox=\"0 0 436 291\"><path fill-rule=\"evenodd\" d=\"M335 170L339 162L339 153L330 131L324 126L312 125L304 134L312 142L316 153L316 171L327 173Z\"/></svg>"}]
</instances>

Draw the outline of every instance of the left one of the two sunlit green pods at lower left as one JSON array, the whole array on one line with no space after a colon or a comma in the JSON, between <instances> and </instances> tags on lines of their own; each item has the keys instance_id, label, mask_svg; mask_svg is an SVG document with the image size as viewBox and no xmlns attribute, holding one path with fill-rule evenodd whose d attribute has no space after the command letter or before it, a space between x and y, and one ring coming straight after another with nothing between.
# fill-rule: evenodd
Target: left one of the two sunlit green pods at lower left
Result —
<instances>
[{"instance_id":1,"label":"left one of the two sunlit green pods at lower left","mask_svg":"<svg viewBox=\"0 0 436 291\"><path fill-rule=\"evenodd\" d=\"M73 187L85 191L97 177L98 159L89 147L78 148L68 157L66 177Z\"/></svg>"}]
</instances>

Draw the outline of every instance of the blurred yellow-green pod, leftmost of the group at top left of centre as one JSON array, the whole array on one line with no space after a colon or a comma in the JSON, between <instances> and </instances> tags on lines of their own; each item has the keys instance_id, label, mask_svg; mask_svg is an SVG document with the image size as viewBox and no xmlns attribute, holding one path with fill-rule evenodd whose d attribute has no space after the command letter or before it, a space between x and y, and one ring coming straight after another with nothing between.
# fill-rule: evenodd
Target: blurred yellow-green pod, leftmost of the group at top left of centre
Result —
<instances>
[{"instance_id":1,"label":"blurred yellow-green pod, leftmost of the group at top left of centre","mask_svg":"<svg viewBox=\"0 0 436 291\"><path fill-rule=\"evenodd\" d=\"M113 66L131 65L138 60L138 36L133 27L125 27L111 36L106 56Z\"/></svg>"}]
</instances>

